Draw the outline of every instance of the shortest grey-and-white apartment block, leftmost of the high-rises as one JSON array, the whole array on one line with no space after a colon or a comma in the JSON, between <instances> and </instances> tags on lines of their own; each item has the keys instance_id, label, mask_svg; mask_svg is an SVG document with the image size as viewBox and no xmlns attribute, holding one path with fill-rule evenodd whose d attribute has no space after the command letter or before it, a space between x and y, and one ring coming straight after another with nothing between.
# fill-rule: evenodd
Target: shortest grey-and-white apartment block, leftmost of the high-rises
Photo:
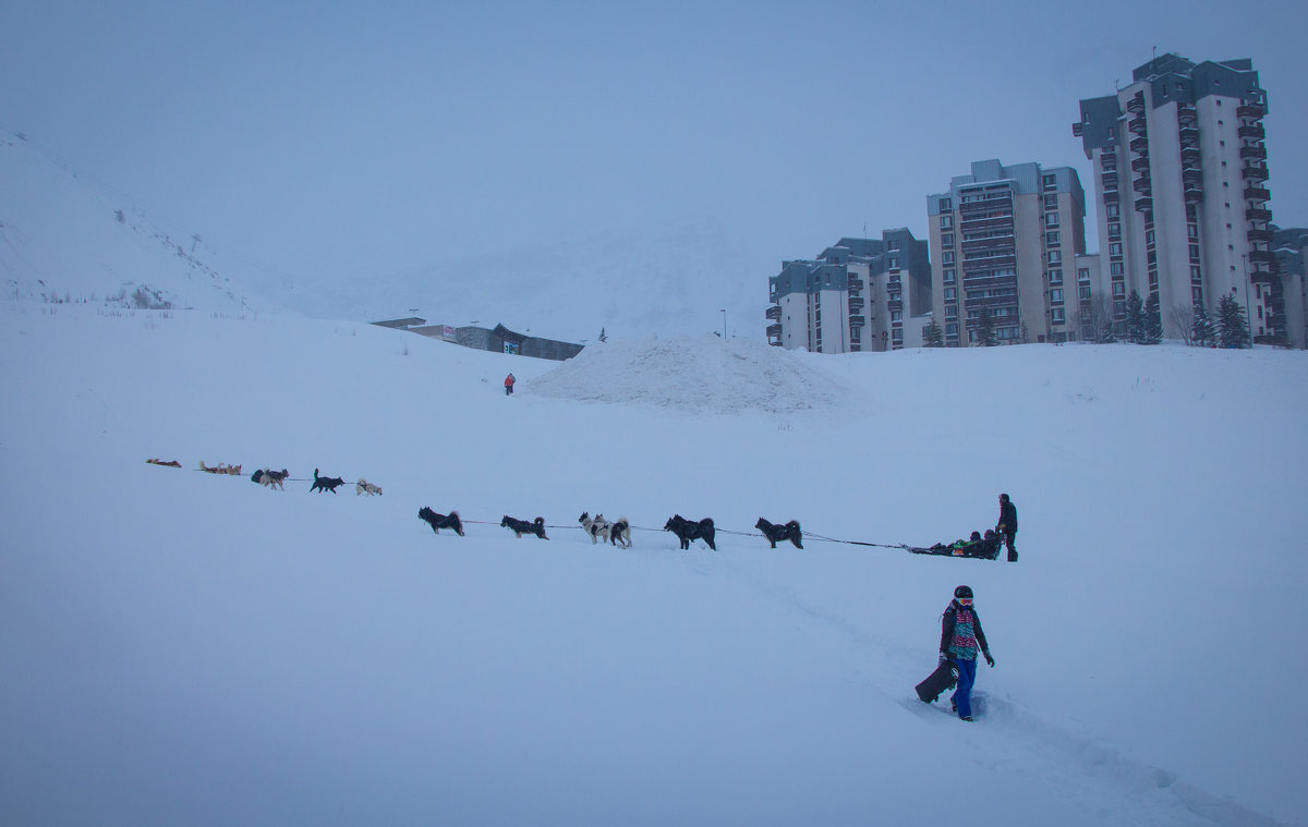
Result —
<instances>
[{"instance_id":1,"label":"shortest grey-and-white apartment block, leftmost of the high-rises","mask_svg":"<svg viewBox=\"0 0 1308 827\"><path fill-rule=\"evenodd\" d=\"M768 344L812 353L920 347L930 284L926 242L909 230L841 238L768 279Z\"/></svg>"}]
</instances>

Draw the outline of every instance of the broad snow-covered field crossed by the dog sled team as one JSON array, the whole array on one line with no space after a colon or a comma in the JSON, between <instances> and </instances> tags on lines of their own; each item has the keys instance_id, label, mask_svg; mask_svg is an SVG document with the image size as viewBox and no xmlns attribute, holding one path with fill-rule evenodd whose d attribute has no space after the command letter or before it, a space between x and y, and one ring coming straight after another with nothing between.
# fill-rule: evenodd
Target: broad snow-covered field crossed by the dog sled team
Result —
<instances>
[{"instance_id":1,"label":"broad snow-covered field crossed by the dog sled team","mask_svg":"<svg viewBox=\"0 0 1308 827\"><path fill-rule=\"evenodd\" d=\"M721 360L848 389L719 414L545 395L613 382L604 353L0 319L7 824L1304 823L1303 353L610 343L650 353L628 387ZM310 493L314 467L351 485ZM749 537L929 544L999 491L1018 565ZM422 505L476 522L437 537ZM674 512L719 551L645 530ZM960 582L997 658L971 725L912 691Z\"/></svg>"}]
</instances>

